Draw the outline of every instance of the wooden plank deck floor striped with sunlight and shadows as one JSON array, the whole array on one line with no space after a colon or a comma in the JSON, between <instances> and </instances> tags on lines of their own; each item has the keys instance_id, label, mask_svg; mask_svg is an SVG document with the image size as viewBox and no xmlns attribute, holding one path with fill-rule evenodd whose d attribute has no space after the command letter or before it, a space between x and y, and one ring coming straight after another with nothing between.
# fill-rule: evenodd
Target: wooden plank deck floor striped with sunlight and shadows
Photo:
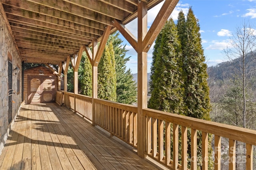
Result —
<instances>
[{"instance_id":1,"label":"wooden plank deck floor striped with sunlight and shadows","mask_svg":"<svg viewBox=\"0 0 256 170\"><path fill-rule=\"evenodd\" d=\"M159 169L118 140L64 106L24 105L0 155L0 169Z\"/></svg>"}]
</instances>

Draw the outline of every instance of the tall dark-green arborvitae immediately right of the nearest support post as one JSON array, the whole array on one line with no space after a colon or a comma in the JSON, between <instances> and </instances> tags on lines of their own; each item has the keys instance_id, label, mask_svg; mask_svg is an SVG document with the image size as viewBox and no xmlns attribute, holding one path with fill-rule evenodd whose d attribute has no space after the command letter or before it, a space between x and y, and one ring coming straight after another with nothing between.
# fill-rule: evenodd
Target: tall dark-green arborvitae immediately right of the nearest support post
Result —
<instances>
[{"instance_id":1,"label":"tall dark-green arborvitae immediately right of the nearest support post","mask_svg":"<svg viewBox=\"0 0 256 170\"><path fill-rule=\"evenodd\" d=\"M181 78L180 41L176 25L168 20L157 39L158 53L154 53L153 73L151 75L151 98L148 107L172 113L183 113L183 89ZM160 43L160 45L159 45ZM154 48L156 50L156 48Z\"/></svg>"}]
</instances>

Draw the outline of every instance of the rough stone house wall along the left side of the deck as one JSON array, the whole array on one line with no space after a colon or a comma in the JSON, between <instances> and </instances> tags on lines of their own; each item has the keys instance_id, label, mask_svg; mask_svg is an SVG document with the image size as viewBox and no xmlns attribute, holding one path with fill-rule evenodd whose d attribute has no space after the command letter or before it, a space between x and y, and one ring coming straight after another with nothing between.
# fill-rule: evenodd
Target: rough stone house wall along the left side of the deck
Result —
<instances>
[{"instance_id":1,"label":"rough stone house wall along the left side of the deck","mask_svg":"<svg viewBox=\"0 0 256 170\"><path fill-rule=\"evenodd\" d=\"M13 121L8 125L8 53L12 56L12 68L20 67L18 75L12 74L12 115L17 115L22 102L22 63L15 44L10 37L8 29L0 15L0 153L4 147ZM20 78L20 93L17 93L17 78Z\"/></svg>"}]
</instances>

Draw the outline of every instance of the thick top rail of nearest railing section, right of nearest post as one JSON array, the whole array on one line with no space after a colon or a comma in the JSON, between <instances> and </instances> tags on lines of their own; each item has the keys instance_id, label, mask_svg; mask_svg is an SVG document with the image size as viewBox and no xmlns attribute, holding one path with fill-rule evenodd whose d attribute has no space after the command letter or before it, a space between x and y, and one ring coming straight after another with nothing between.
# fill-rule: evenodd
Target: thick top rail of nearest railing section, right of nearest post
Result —
<instances>
[{"instance_id":1,"label":"thick top rail of nearest railing section, right of nearest post","mask_svg":"<svg viewBox=\"0 0 256 170\"><path fill-rule=\"evenodd\" d=\"M221 137L256 145L256 131L252 129L226 125L223 123L197 119L154 109L143 109L143 114L148 117L190 127L206 133L212 133Z\"/></svg>"}]
</instances>

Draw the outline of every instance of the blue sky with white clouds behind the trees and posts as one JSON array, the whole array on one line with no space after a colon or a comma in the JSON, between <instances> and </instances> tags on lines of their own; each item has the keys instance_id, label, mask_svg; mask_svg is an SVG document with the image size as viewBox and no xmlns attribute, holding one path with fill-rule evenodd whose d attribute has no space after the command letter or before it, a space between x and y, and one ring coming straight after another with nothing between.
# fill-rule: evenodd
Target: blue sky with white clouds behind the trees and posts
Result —
<instances>
[{"instance_id":1,"label":"blue sky with white clouds behind the trees and posts","mask_svg":"<svg viewBox=\"0 0 256 170\"><path fill-rule=\"evenodd\" d=\"M148 11L148 28L154 21L158 11L163 3ZM171 17L177 21L180 10L186 15L189 7L196 18L199 20L202 46L208 66L216 65L227 61L223 49L230 47L229 40L236 29L242 26L242 23L250 23L251 27L256 29L256 0L180 0L172 12ZM137 20L128 23L126 27L136 37ZM137 53L132 49L130 44L120 35L126 44L127 57L131 56L130 61L126 64L132 73L137 73ZM152 49L148 51L148 72L152 63Z\"/></svg>"}]
</instances>

